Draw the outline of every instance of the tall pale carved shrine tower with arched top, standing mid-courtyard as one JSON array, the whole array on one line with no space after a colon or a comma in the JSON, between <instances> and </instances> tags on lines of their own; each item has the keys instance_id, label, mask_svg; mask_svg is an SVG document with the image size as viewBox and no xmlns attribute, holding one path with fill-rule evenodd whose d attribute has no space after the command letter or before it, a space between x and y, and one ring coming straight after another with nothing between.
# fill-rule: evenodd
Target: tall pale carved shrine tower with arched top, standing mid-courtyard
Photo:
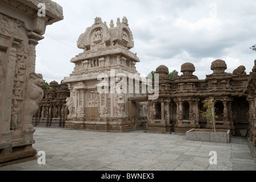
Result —
<instances>
[{"instance_id":1,"label":"tall pale carved shrine tower with arched top, standing mid-courtyard","mask_svg":"<svg viewBox=\"0 0 256 182\"><path fill-rule=\"evenodd\" d=\"M146 126L146 102L127 101L128 97L143 96L134 91L135 82L142 81L135 68L137 53L129 51L134 42L127 18L123 17L122 22L118 18L115 27L111 20L108 27L96 17L93 26L79 36L77 46L83 52L71 59L74 71L63 80L70 89L65 128L129 131ZM107 78L98 79L100 73ZM104 82L106 92L99 93L98 84ZM127 85L122 88L127 93L116 92L121 82ZM128 93L130 86L133 91Z\"/></svg>"}]
</instances>

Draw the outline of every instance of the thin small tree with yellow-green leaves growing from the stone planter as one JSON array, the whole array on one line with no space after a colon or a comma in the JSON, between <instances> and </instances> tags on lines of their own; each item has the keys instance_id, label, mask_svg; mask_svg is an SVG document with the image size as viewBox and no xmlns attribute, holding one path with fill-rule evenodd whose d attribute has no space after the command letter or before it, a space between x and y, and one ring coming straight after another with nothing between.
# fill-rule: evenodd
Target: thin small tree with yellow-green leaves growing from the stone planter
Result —
<instances>
[{"instance_id":1,"label":"thin small tree with yellow-green leaves growing from the stone planter","mask_svg":"<svg viewBox=\"0 0 256 182\"><path fill-rule=\"evenodd\" d=\"M206 111L200 111L201 115L203 117L206 117L207 119L209 119L209 121L211 122L211 125L213 126L214 132L216 133L215 130L215 119L218 118L218 115L216 115L215 113L215 102L213 100L204 100L202 101L203 103L203 107L206 109Z\"/></svg>"}]
</instances>

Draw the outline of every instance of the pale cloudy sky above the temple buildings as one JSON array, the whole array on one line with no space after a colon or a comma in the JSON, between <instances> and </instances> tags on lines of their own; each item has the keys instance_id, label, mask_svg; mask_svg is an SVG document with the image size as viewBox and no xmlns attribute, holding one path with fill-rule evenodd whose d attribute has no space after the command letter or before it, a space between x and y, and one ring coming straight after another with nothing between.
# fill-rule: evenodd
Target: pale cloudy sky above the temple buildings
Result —
<instances>
[{"instance_id":1,"label":"pale cloudy sky above the temple buildings","mask_svg":"<svg viewBox=\"0 0 256 182\"><path fill-rule=\"evenodd\" d=\"M194 75L204 79L212 73L211 62L226 61L226 72L245 65L249 73L256 59L256 1L199 0L54 0L63 7L64 19L46 28L37 46L35 72L47 82L61 82L74 69L70 60L78 53L79 35L99 16L109 26L123 16L133 32L134 48L141 60L141 76L163 64L169 71L186 62L195 65Z\"/></svg>"}]
</instances>

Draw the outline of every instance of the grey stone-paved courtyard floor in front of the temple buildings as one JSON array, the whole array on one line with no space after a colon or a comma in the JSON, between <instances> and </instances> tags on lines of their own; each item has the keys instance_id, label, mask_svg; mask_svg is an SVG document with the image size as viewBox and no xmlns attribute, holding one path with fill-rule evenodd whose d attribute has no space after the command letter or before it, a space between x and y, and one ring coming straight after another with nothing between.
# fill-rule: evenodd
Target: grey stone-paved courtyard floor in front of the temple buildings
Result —
<instances>
[{"instance_id":1,"label":"grey stone-paved courtyard floor in front of the temple buildings","mask_svg":"<svg viewBox=\"0 0 256 182\"><path fill-rule=\"evenodd\" d=\"M246 138L232 138L229 144L191 142L181 134L145 131L103 133L35 127L33 147L45 151L46 164L33 160L0 167L0 171L256 171ZM209 164L210 151L217 152L217 165Z\"/></svg>"}]
</instances>

